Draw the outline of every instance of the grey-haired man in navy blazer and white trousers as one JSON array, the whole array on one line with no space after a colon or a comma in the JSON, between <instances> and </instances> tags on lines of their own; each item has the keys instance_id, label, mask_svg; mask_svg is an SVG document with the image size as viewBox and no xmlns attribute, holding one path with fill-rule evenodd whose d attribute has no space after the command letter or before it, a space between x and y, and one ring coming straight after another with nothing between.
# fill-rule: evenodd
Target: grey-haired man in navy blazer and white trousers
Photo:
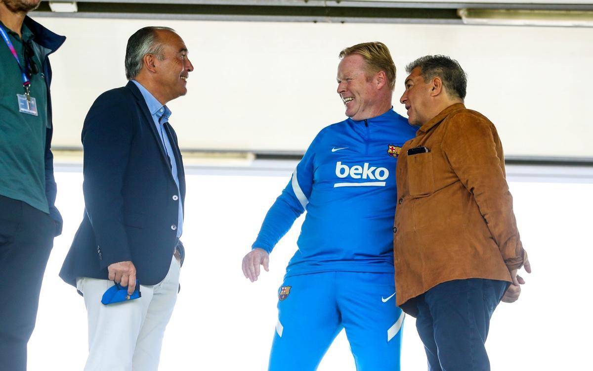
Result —
<instances>
[{"instance_id":1,"label":"grey-haired man in navy blazer and white trousers","mask_svg":"<svg viewBox=\"0 0 593 371\"><path fill-rule=\"evenodd\" d=\"M192 63L171 28L145 27L127 43L125 87L95 100L82 129L85 213L60 277L84 296L85 371L158 369L184 250L185 181L165 105L187 92ZM141 297L101 304L114 285Z\"/></svg>"}]
</instances>

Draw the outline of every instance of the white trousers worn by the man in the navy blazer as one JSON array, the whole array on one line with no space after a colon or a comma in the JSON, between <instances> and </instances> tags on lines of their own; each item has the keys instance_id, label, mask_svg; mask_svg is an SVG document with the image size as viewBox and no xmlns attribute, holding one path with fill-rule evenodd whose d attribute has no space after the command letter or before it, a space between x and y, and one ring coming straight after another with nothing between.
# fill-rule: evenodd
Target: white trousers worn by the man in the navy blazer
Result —
<instances>
[{"instance_id":1,"label":"white trousers worn by the man in the navy blazer","mask_svg":"<svg viewBox=\"0 0 593 371\"><path fill-rule=\"evenodd\" d=\"M84 371L157 371L162 337L179 287L176 258L164 280L140 285L142 297L110 305L101 297L113 281L78 277L88 314L88 359Z\"/></svg>"}]
</instances>

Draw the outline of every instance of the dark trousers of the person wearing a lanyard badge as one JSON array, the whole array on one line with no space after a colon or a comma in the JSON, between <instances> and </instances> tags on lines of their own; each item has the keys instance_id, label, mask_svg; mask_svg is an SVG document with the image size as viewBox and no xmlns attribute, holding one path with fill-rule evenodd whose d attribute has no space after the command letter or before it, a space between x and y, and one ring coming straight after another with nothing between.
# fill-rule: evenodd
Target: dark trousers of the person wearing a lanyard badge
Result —
<instances>
[{"instance_id":1,"label":"dark trousers of the person wearing a lanyard badge","mask_svg":"<svg viewBox=\"0 0 593 371\"><path fill-rule=\"evenodd\" d=\"M0 196L0 370L27 369L27 342L39 305L56 225L23 201Z\"/></svg>"}]
</instances>

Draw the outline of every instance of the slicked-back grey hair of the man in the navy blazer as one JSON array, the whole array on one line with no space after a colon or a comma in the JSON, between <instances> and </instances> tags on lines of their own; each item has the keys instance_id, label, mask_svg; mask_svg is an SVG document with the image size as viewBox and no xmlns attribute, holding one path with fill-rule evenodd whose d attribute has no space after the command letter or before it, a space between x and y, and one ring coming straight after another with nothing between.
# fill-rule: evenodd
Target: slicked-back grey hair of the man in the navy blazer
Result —
<instances>
[{"instance_id":1,"label":"slicked-back grey hair of the man in the navy blazer","mask_svg":"<svg viewBox=\"0 0 593 371\"><path fill-rule=\"evenodd\" d=\"M142 69L142 59L146 54L153 54L162 61L165 56L162 54L163 45L158 42L157 30L175 32L173 28L149 26L140 28L129 39L126 46L126 78L132 80Z\"/></svg>"}]
</instances>

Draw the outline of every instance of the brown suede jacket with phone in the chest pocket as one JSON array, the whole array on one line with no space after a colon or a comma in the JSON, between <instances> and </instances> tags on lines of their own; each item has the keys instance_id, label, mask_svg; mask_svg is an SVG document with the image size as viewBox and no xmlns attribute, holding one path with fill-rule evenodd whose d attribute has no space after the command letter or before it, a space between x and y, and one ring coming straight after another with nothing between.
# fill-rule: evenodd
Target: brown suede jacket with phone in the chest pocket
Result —
<instances>
[{"instance_id":1,"label":"brown suede jacket with phone in the chest pocket","mask_svg":"<svg viewBox=\"0 0 593 371\"><path fill-rule=\"evenodd\" d=\"M429 151L408 155L415 147ZM461 103L447 107L404 144L396 179L398 306L415 316L410 299L446 281L511 282L526 254L492 122Z\"/></svg>"}]
</instances>

